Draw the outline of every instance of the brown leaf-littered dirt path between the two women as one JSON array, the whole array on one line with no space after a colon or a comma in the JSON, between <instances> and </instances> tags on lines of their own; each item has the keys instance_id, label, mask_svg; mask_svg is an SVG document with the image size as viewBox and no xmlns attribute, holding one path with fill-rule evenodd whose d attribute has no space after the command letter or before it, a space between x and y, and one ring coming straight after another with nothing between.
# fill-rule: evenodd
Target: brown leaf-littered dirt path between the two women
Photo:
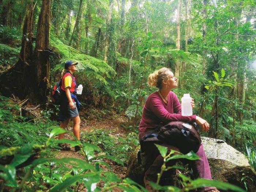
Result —
<instances>
[{"instance_id":1,"label":"brown leaf-littered dirt path between the two women","mask_svg":"<svg viewBox=\"0 0 256 192\"><path fill-rule=\"evenodd\" d=\"M82 119L81 125L80 125L80 135L83 134L84 132L90 132L94 129L109 129L111 130L112 136L123 137L124 134L128 133L128 131L121 126L121 123L127 122L127 120L128 119L125 116L115 116L115 118L111 116L107 116L102 120L99 120L99 119L92 120L92 118L90 118L89 120ZM72 122L69 123L67 130L72 131ZM64 138L71 139L71 140L73 139L70 134L65 134ZM71 151L56 151L55 157L56 158L72 157L72 158L78 158L78 159L84 158L82 154L75 151L74 147L71 148ZM125 172L127 170L126 166L122 166L116 162L110 161L109 159L106 159L105 162L107 162L111 166L111 170L105 165L100 165L103 171L111 171L115 173L122 180L125 178ZM103 185L104 183L102 181L99 183L98 187L102 188ZM117 188L113 190L114 192L123 191Z\"/></svg>"}]
</instances>

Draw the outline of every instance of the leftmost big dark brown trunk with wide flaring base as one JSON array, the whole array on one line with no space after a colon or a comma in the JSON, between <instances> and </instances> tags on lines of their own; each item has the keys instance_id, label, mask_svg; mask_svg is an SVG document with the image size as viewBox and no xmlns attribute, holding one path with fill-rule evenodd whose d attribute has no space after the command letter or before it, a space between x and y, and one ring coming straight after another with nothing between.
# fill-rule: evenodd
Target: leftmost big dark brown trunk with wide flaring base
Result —
<instances>
[{"instance_id":1,"label":"leftmost big dark brown trunk with wide flaring base","mask_svg":"<svg viewBox=\"0 0 256 192\"><path fill-rule=\"evenodd\" d=\"M34 6L33 0L27 1L19 60L10 69L0 74L0 90L1 93L7 97L11 94L15 94L20 99L25 99L35 92L35 72L32 60Z\"/></svg>"}]
</instances>

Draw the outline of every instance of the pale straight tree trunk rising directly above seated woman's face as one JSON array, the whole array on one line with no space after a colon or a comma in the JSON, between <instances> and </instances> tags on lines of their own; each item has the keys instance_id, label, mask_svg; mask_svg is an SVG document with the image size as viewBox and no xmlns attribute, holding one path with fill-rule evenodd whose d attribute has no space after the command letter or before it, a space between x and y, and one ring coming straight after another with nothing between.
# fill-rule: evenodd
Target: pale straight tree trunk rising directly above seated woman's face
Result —
<instances>
[{"instance_id":1,"label":"pale straight tree trunk rising directly above seated woman's face","mask_svg":"<svg viewBox=\"0 0 256 192\"><path fill-rule=\"evenodd\" d=\"M180 18L181 18L181 0L178 0L178 7L177 7L177 26L176 26L176 49L180 49ZM180 76L180 61L176 61L174 76Z\"/></svg>"}]
</instances>

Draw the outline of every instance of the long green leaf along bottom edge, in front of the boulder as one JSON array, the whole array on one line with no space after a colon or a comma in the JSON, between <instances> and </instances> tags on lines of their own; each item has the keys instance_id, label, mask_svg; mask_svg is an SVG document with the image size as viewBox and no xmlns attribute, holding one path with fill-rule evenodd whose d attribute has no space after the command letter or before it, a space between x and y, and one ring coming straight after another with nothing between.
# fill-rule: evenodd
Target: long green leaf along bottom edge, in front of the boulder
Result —
<instances>
[{"instance_id":1,"label":"long green leaf along bottom edge, in front of the boulder","mask_svg":"<svg viewBox=\"0 0 256 192\"><path fill-rule=\"evenodd\" d=\"M202 179L198 178L196 180L193 180L191 184L195 188L199 187L207 187L207 186L213 186L221 190L232 190L236 192L245 192L244 189L241 189L240 187L237 187L236 185L232 185L223 181L215 181L215 180L207 180L207 179Z\"/></svg>"}]
</instances>

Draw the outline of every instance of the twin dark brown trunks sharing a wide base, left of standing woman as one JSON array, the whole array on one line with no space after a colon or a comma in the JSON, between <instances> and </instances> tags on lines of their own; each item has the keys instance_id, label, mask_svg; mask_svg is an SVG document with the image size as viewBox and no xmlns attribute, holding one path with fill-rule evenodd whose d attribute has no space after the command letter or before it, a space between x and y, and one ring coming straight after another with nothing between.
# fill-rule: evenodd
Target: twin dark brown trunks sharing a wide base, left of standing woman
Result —
<instances>
[{"instance_id":1,"label":"twin dark brown trunks sharing a wide base, left of standing woman","mask_svg":"<svg viewBox=\"0 0 256 192\"><path fill-rule=\"evenodd\" d=\"M38 18L37 40L32 55L33 0L28 1L23 27L20 59L8 71L0 75L5 94L14 93L19 98L30 98L31 102L45 102L48 94L49 76L49 28L50 0L42 0ZM45 50L44 49L48 49ZM4 79L4 81L2 81ZM10 84L11 83L11 84Z\"/></svg>"}]
</instances>

